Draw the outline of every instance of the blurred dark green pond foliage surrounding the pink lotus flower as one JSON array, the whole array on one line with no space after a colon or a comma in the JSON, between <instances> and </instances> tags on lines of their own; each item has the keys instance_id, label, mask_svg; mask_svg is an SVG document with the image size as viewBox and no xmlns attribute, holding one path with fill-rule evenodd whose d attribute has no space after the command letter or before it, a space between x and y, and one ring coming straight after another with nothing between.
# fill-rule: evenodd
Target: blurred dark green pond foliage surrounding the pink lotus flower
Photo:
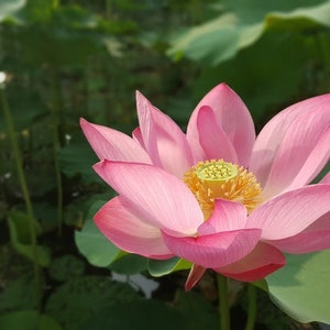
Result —
<instances>
[{"instance_id":1,"label":"blurred dark green pond foliage surrounding the pink lotus flower","mask_svg":"<svg viewBox=\"0 0 330 330\"><path fill-rule=\"evenodd\" d=\"M186 265L125 255L94 226L113 193L91 170L79 118L130 133L139 89L185 129L226 81L260 130L329 91L329 25L321 0L1 0L0 328L217 329L211 275L191 293L180 290L185 272L158 277L144 299L132 274ZM293 324L262 304L257 329Z\"/></svg>"}]
</instances>

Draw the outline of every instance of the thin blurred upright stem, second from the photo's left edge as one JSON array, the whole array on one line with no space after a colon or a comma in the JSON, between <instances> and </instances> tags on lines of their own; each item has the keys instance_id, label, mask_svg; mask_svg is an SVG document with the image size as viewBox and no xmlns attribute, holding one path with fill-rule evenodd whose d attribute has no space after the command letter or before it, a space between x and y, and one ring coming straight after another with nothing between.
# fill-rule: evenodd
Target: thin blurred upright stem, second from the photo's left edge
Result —
<instances>
[{"instance_id":1,"label":"thin blurred upright stem, second from the photo's left edge","mask_svg":"<svg viewBox=\"0 0 330 330\"><path fill-rule=\"evenodd\" d=\"M51 114L53 123L53 150L54 150L54 167L57 187L57 223L58 233L62 234L63 229L63 183L61 175L61 166L58 162L58 151L61 150L59 122L63 122L63 99L61 92L61 81L56 68L52 72L52 105Z\"/></svg>"}]
</instances>

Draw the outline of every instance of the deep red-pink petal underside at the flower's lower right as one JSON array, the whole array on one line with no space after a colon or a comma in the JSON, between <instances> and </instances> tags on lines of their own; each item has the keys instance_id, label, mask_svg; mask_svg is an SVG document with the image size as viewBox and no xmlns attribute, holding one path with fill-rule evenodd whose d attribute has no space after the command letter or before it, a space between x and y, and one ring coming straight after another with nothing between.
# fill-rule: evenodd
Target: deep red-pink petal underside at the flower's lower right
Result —
<instances>
[{"instance_id":1,"label":"deep red-pink petal underside at the flower's lower right","mask_svg":"<svg viewBox=\"0 0 330 330\"><path fill-rule=\"evenodd\" d=\"M244 258L215 271L237 280L254 282L264 278L284 265L285 257L276 248L260 242Z\"/></svg>"}]
</instances>

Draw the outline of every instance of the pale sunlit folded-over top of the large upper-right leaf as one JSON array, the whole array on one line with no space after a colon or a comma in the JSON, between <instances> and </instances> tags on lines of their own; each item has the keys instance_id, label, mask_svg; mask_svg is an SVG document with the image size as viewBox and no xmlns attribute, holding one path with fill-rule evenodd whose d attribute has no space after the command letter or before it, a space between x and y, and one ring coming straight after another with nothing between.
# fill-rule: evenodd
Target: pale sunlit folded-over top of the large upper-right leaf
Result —
<instances>
[{"instance_id":1,"label":"pale sunlit folded-over top of the large upper-right leaf","mask_svg":"<svg viewBox=\"0 0 330 330\"><path fill-rule=\"evenodd\" d=\"M223 2L224 13L176 36L168 54L177 59L186 55L194 61L217 65L251 46L267 30L274 26L279 30L287 29L286 22L283 21L296 20L298 24L294 22L292 29L300 28L302 31L317 30L319 24L328 26L330 22L330 4L321 3L316 7L316 2L321 1L275 3L252 0L241 2L240 6L240 1Z\"/></svg>"}]
</instances>

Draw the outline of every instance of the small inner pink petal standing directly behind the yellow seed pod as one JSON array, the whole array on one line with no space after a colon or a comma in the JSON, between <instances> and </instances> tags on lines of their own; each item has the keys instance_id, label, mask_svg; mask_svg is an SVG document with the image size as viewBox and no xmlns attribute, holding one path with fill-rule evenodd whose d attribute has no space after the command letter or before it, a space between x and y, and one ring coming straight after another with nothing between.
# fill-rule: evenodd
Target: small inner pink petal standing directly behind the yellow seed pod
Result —
<instances>
[{"instance_id":1,"label":"small inner pink petal standing directly behind the yellow seed pod","mask_svg":"<svg viewBox=\"0 0 330 330\"><path fill-rule=\"evenodd\" d=\"M213 110L208 106L200 107L197 116L199 142L207 160L223 158L238 163L238 155L226 132L217 123Z\"/></svg>"}]
</instances>

